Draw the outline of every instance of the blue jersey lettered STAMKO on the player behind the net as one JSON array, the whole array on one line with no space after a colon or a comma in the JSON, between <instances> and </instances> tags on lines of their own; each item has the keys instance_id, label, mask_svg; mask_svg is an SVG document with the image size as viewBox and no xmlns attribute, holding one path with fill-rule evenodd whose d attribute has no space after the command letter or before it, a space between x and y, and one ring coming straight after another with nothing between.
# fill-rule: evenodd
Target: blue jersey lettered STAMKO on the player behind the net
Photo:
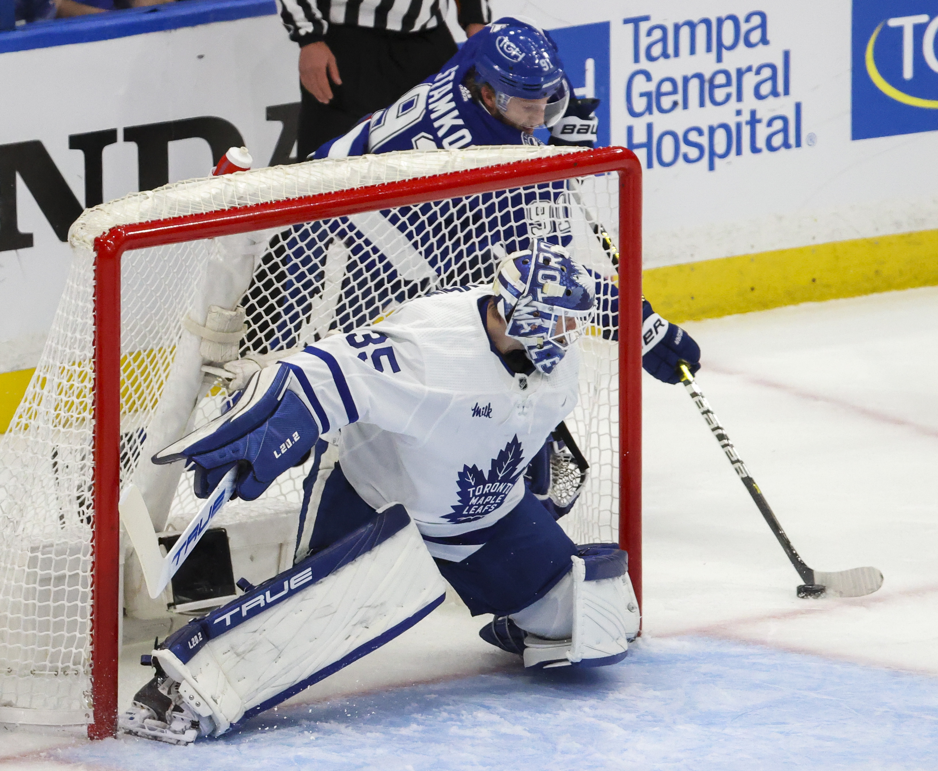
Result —
<instances>
[{"instance_id":1,"label":"blue jersey lettered STAMKO on the player behind the net","mask_svg":"<svg viewBox=\"0 0 938 771\"><path fill-rule=\"evenodd\" d=\"M469 38L440 72L324 144L315 159L542 144L489 114L462 83L479 47L506 23L523 24L511 18L489 24ZM579 244L574 243L578 231ZM534 237L570 248L591 268L598 278L598 324L616 323L618 293L614 280L609 280L614 274L610 255L599 250L596 237L584 227L583 206L565 181L327 219L297 225L281 237L278 251L285 254L278 259L288 279L277 298L280 309L275 314L276 334L267 338L269 350L303 341L317 297L338 295L330 329L348 332L429 290L491 281L498 263L492 249L507 253L527 249ZM341 254L345 262L341 286L331 293L325 281L330 252ZM595 259L584 259L586 252L593 252Z\"/></svg>"}]
</instances>

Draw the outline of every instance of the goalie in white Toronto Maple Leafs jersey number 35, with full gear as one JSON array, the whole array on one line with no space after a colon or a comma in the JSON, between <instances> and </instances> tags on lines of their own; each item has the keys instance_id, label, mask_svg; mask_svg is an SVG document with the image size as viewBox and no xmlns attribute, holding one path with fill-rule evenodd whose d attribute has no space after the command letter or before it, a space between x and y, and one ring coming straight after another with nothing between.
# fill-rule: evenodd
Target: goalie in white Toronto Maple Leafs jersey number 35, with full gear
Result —
<instances>
[{"instance_id":1,"label":"goalie in white Toronto Maple Leafs jersey number 35, with full gear","mask_svg":"<svg viewBox=\"0 0 938 771\"><path fill-rule=\"evenodd\" d=\"M566 450L545 440L577 401L595 287L534 241L492 285L255 364L228 412L159 452L186 461L200 497L236 469L246 500L314 462L294 567L159 644L121 727L175 744L225 733L416 624L443 601L441 575L526 667L625 658L627 555L573 543L554 519L572 502L547 494Z\"/></svg>"}]
</instances>

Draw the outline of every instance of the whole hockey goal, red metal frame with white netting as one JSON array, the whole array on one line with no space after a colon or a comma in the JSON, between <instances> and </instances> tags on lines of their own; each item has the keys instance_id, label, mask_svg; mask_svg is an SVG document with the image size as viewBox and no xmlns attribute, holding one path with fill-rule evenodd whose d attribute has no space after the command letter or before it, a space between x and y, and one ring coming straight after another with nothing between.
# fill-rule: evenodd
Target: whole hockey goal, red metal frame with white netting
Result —
<instances>
[{"instance_id":1,"label":"whole hockey goal, red metal frame with white netting","mask_svg":"<svg viewBox=\"0 0 938 771\"><path fill-rule=\"evenodd\" d=\"M496 244L562 243L597 279L567 418L590 476L561 524L580 543L617 539L641 602L641 174L621 147L415 150L189 180L85 211L53 329L0 439L0 722L115 732L120 492L137 484L158 531L194 515L182 464L148 459L222 399L189 322L241 306L243 328L215 342L276 354L489 282ZM308 469L259 500L298 508Z\"/></svg>"}]
</instances>

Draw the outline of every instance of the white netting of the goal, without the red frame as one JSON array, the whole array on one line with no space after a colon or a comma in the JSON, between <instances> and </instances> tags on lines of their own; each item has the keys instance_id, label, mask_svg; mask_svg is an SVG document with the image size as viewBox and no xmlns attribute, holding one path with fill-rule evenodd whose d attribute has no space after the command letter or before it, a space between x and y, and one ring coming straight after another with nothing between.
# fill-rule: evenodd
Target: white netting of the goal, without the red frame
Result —
<instances>
[{"instance_id":1,"label":"white netting of the goal, without the red frame","mask_svg":"<svg viewBox=\"0 0 938 771\"><path fill-rule=\"evenodd\" d=\"M486 147L310 161L180 182L83 214L72 227L74 264L53 329L0 438L0 721L28 722L30 711L83 721L92 706L95 237L119 224L288 203L565 152L579 148ZM496 245L510 252L541 237L563 244L587 265L601 294L582 340L580 404L567 419L590 476L561 522L580 543L615 540L617 190L617 174L600 174L464 197L444 194L423 204L127 252L121 265L122 489L137 484L158 531L198 509L181 464L157 467L148 459L218 414L224 381L213 371L231 356L206 358L205 340L191 331L193 323L206 324L210 306L244 309L243 321L235 319L235 330L245 327L243 335L234 335L235 356L276 355L333 330L368 325L410 298L490 282ZM231 346L232 330L218 337L219 350ZM281 477L255 506L295 511L308 471L299 467ZM113 561L116 571L118 555L96 558Z\"/></svg>"}]
</instances>

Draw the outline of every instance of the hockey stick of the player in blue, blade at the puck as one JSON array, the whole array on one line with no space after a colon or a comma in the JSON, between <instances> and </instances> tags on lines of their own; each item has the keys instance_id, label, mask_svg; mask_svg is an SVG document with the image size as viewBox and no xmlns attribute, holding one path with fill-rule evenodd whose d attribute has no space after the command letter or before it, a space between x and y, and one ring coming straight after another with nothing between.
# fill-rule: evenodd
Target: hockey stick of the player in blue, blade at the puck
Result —
<instances>
[{"instance_id":1,"label":"hockey stick of the player in blue, blade at the puck","mask_svg":"<svg viewBox=\"0 0 938 771\"><path fill-rule=\"evenodd\" d=\"M749 495L752 496L756 506L759 506L759 511L762 512L765 522L768 523L775 537L779 539L781 548L788 555L788 559L791 560L794 569L798 571L798 575L801 576L804 583L797 588L798 597L863 597L864 595L871 595L879 589L883 585L883 574L875 567L854 567L851 570L825 573L821 570L813 570L805 564L798 552L794 551L794 546L792 546L788 536L785 535L785 531L781 529L781 525L768 505L768 501L765 500L765 496L759 489L759 485L749 475L746 464L736 453L736 448L733 446L733 442L730 441L730 437L727 436L726 429L719 424L719 418L710 408L710 404L706 401L700 388L697 387L697 382L690 374L687 364L681 362L678 369L681 372L681 380L688 389L690 398L697 405L697 409L700 410L703 419L710 427L710 431L717 438L719 446L723 448L723 452L726 453L726 457L736 470L736 474L749 491Z\"/></svg>"}]
</instances>

